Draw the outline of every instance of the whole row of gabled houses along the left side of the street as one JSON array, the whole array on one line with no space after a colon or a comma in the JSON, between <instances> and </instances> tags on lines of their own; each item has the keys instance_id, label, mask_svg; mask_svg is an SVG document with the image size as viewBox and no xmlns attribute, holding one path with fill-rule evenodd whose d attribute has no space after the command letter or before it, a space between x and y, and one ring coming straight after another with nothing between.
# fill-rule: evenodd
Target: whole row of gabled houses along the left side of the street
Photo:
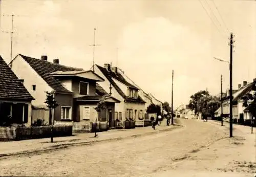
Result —
<instances>
[{"instance_id":1,"label":"whole row of gabled houses along the left side of the street","mask_svg":"<svg viewBox=\"0 0 256 177\"><path fill-rule=\"evenodd\" d=\"M54 121L145 120L146 108L162 102L145 93L124 72L106 63L93 65L89 71L61 65L47 56L40 59L18 54L8 65L0 56L0 118L30 126L37 119L50 123L46 92L55 91L59 106L53 111ZM105 96L106 109L94 109Z\"/></svg>"}]
</instances>

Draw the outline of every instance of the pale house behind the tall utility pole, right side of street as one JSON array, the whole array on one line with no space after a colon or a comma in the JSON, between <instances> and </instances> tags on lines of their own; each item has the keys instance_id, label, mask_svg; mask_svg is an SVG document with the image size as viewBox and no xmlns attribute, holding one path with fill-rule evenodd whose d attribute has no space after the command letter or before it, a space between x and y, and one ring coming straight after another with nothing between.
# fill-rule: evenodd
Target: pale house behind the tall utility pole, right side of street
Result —
<instances>
[{"instance_id":1,"label":"pale house behind the tall utility pole, right side of street","mask_svg":"<svg viewBox=\"0 0 256 177\"><path fill-rule=\"evenodd\" d=\"M253 94L254 91L252 91L252 84L247 83L247 81L243 81L242 84L238 85L238 90L232 91L232 117L236 121L244 121L246 119L250 119L249 116L246 115L244 112L245 107L243 107L243 96L250 93ZM221 116L221 107L219 107L215 111L215 116L220 117ZM223 98L223 117L229 117L229 94L226 94L226 97Z\"/></svg>"}]
</instances>

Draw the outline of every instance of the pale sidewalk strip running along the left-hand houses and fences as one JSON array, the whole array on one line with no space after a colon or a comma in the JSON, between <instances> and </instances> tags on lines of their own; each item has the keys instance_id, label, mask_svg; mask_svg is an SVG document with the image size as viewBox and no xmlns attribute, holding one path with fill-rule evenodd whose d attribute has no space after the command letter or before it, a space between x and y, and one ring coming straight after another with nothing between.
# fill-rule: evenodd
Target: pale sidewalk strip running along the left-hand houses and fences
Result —
<instances>
[{"instance_id":1,"label":"pale sidewalk strip running along the left-hand houses and fences","mask_svg":"<svg viewBox=\"0 0 256 177\"><path fill-rule=\"evenodd\" d=\"M103 132L97 132L97 138L94 138L94 133L74 134L74 136L70 137L56 137L53 138L53 143L50 143L50 138L0 142L0 157L43 152L75 145L89 145L92 143L103 141L136 138L145 135L157 134L161 131L169 131L181 127L181 125L176 124L174 126L156 126L155 130L151 126L136 127L135 129L113 129Z\"/></svg>"}]
</instances>

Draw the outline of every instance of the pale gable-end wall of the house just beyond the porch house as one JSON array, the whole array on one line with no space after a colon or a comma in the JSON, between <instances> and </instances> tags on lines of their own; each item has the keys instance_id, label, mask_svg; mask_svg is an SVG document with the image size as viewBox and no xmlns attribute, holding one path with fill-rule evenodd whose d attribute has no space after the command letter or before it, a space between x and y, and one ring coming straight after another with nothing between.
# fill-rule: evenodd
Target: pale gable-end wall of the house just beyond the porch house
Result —
<instances>
[{"instance_id":1,"label":"pale gable-end wall of the house just beyond the porch house","mask_svg":"<svg viewBox=\"0 0 256 177\"><path fill-rule=\"evenodd\" d=\"M100 77L102 77L105 81L103 82L98 82L98 84L107 92L109 93L110 92L110 82L109 80L101 73L101 71L98 69L98 67L95 65L94 66L94 70L95 70L95 73L97 75L99 75ZM118 99L119 101L121 101L120 103L115 103L115 112L121 112L121 115L122 115L122 120L125 119L125 112L124 112L124 99L121 95L119 95L119 93L116 91L116 89L114 88L114 86L112 85L112 97Z\"/></svg>"}]
</instances>

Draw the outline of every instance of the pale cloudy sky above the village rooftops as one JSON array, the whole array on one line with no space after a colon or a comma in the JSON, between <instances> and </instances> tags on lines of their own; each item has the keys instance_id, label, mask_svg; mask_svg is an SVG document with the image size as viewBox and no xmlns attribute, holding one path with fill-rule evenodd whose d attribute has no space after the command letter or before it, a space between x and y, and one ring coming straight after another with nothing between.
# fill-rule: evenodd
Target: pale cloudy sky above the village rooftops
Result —
<instances>
[{"instance_id":1,"label":"pale cloudy sky above the village rooftops","mask_svg":"<svg viewBox=\"0 0 256 177\"><path fill-rule=\"evenodd\" d=\"M233 89L256 78L256 1L253 0L1 0L0 55L47 55L89 70L112 62L145 92L174 107L200 90L229 87L230 32L234 34ZM4 31L4 32L2 32ZM8 32L8 33L7 33ZM117 49L118 48L118 49Z\"/></svg>"}]
</instances>

